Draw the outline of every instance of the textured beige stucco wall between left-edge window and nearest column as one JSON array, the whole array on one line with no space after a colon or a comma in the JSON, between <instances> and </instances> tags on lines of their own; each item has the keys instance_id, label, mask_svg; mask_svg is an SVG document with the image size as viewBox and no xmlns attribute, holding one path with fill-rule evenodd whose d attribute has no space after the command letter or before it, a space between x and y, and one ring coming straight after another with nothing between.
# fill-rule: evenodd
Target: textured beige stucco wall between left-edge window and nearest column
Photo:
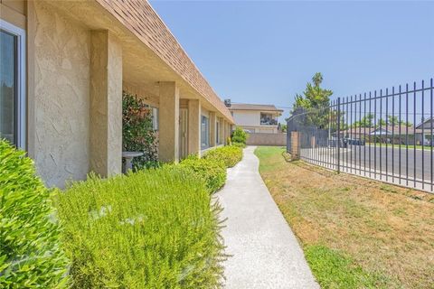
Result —
<instances>
[{"instance_id":1,"label":"textured beige stucco wall between left-edge window and nearest column","mask_svg":"<svg viewBox=\"0 0 434 289\"><path fill-rule=\"evenodd\" d=\"M31 156L47 185L63 187L89 172L90 33L42 2L32 7Z\"/></svg>"}]
</instances>

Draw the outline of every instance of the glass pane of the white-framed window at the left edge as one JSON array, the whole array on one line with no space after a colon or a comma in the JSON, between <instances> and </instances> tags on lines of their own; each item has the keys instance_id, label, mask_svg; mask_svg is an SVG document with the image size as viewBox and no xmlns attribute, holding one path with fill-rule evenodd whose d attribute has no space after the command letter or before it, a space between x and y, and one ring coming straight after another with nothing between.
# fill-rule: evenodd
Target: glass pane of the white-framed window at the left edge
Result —
<instances>
[{"instance_id":1,"label":"glass pane of the white-framed window at the left edge","mask_svg":"<svg viewBox=\"0 0 434 289\"><path fill-rule=\"evenodd\" d=\"M0 137L16 144L17 37L0 31Z\"/></svg>"}]
</instances>

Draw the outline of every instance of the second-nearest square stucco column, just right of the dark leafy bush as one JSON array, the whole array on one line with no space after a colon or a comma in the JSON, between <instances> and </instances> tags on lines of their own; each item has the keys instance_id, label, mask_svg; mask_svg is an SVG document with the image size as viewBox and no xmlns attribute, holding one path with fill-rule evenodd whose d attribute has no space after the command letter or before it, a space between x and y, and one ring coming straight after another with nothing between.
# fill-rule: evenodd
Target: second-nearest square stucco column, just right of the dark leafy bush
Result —
<instances>
[{"instance_id":1,"label":"second-nearest square stucco column, just right of the dark leafy bush","mask_svg":"<svg viewBox=\"0 0 434 289\"><path fill-rule=\"evenodd\" d=\"M160 82L158 158L165 163L179 161L179 89L176 83Z\"/></svg>"}]
</instances>

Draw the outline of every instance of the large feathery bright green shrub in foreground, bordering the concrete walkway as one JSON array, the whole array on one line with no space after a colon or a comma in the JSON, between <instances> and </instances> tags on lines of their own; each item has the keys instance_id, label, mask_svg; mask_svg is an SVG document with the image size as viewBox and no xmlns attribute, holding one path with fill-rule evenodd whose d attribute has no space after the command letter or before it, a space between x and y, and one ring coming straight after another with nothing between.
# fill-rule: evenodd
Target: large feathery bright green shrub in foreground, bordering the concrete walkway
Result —
<instances>
[{"instance_id":1,"label":"large feathery bright green shrub in foreground, bordering the concrete walkway","mask_svg":"<svg viewBox=\"0 0 434 289\"><path fill-rule=\"evenodd\" d=\"M57 199L74 288L213 288L222 278L218 213L203 181L176 165L101 180Z\"/></svg>"}]
</instances>

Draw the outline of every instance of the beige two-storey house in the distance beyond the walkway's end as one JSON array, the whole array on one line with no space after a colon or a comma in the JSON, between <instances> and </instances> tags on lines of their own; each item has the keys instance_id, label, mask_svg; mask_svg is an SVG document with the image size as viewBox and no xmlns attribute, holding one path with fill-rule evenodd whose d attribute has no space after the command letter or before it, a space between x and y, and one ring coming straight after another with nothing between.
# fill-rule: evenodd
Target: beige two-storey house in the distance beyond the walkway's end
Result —
<instances>
[{"instance_id":1,"label":"beige two-storey house in the distance beyond the walkway's end","mask_svg":"<svg viewBox=\"0 0 434 289\"><path fill-rule=\"evenodd\" d=\"M278 133L278 117L283 113L273 105L253 105L247 103L230 104L231 115L236 126L241 126L249 133Z\"/></svg>"}]
</instances>

